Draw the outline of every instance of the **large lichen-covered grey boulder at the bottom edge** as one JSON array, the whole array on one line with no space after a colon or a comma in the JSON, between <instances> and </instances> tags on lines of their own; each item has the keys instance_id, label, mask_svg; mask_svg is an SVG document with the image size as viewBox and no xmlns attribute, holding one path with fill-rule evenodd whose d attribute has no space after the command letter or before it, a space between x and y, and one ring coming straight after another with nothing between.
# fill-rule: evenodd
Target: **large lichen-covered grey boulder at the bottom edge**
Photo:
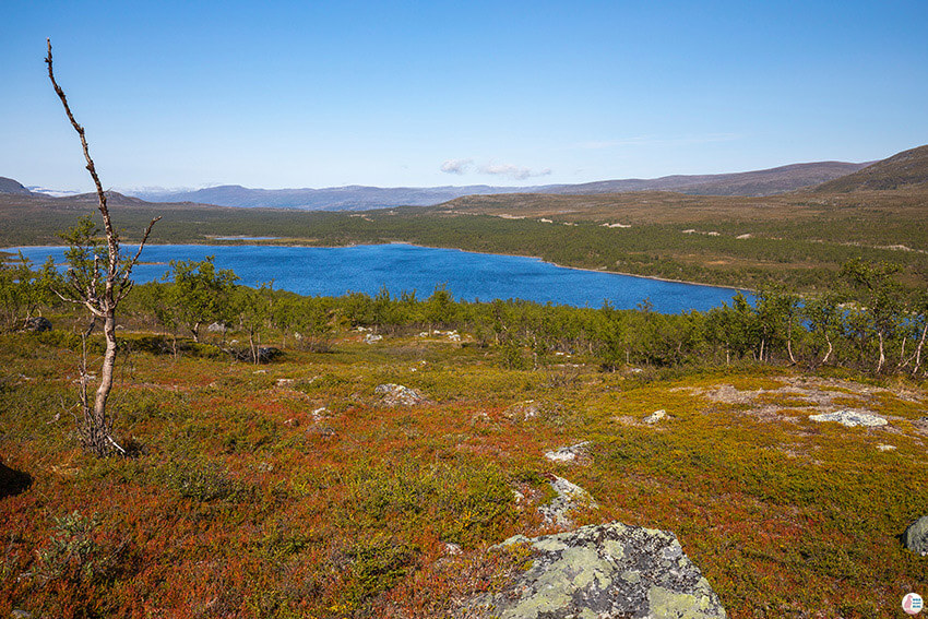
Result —
<instances>
[{"instance_id":1,"label":"large lichen-covered grey boulder at the bottom edge","mask_svg":"<svg viewBox=\"0 0 928 619\"><path fill-rule=\"evenodd\" d=\"M721 619L718 596L673 533L621 523L503 543L530 544L532 567L474 600L501 619Z\"/></svg>"}]
</instances>

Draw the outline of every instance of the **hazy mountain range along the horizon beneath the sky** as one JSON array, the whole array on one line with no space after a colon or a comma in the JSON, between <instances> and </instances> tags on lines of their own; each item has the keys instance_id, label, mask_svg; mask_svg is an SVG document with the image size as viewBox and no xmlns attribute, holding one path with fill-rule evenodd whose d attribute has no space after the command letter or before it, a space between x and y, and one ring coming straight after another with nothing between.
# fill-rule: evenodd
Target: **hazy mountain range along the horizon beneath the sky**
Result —
<instances>
[{"instance_id":1,"label":"hazy mountain range along the horizon beneath the sky","mask_svg":"<svg viewBox=\"0 0 928 619\"><path fill-rule=\"evenodd\" d=\"M130 195L109 192L118 204L185 203L235 207L300 209L309 211L366 211L392 206L431 206L455 198L474 194L552 193L563 195L627 193L632 191L674 191L693 195L762 197L796 190L855 191L858 189L895 189L928 187L928 146L905 151L877 163L852 164L819 162L776 168L718 175L666 176L654 179L619 179L581 184L546 184L536 187L365 187L348 186L324 189L249 189L238 184L211 187L195 191L139 190ZM32 192L13 179L0 177L0 193L41 197L81 204L95 202L91 193L68 195L36 188ZM56 197L61 195L61 197Z\"/></svg>"}]
</instances>

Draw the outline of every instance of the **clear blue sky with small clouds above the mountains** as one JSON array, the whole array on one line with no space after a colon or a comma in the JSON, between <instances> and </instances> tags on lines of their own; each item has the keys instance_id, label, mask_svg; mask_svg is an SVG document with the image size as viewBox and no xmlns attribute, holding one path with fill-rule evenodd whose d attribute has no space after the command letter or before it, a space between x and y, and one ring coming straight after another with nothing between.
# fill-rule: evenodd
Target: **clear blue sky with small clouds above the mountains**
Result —
<instances>
[{"instance_id":1,"label":"clear blue sky with small clouds above the mountains","mask_svg":"<svg viewBox=\"0 0 928 619\"><path fill-rule=\"evenodd\" d=\"M928 143L928 1L4 0L0 176L542 184ZM445 171L442 171L444 168Z\"/></svg>"}]
</instances>

